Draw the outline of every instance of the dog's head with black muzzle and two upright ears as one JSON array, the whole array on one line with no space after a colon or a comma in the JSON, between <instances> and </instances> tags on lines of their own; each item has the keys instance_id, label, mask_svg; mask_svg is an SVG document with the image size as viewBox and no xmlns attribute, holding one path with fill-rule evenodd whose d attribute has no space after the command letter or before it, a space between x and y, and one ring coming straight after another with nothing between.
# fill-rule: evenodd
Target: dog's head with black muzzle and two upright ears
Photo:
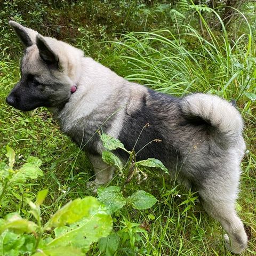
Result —
<instances>
[{"instance_id":1,"label":"dog's head with black muzzle and two upright ears","mask_svg":"<svg viewBox=\"0 0 256 256\"><path fill-rule=\"evenodd\" d=\"M9 24L26 49L20 64L21 79L6 102L23 111L65 105L76 85L83 52L17 22Z\"/></svg>"}]
</instances>

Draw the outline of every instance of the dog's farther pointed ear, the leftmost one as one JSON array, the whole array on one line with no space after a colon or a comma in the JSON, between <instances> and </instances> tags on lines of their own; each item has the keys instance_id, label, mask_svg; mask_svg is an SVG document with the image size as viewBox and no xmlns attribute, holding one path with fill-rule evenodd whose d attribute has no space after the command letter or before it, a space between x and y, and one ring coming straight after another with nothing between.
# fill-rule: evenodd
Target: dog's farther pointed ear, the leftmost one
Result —
<instances>
[{"instance_id":1,"label":"dog's farther pointed ear, the leftmost one","mask_svg":"<svg viewBox=\"0 0 256 256\"><path fill-rule=\"evenodd\" d=\"M23 27L19 23L10 20L9 25L14 29L15 33L21 39L21 42L26 46L29 47L36 42L36 35L38 34L37 31Z\"/></svg>"}]
</instances>

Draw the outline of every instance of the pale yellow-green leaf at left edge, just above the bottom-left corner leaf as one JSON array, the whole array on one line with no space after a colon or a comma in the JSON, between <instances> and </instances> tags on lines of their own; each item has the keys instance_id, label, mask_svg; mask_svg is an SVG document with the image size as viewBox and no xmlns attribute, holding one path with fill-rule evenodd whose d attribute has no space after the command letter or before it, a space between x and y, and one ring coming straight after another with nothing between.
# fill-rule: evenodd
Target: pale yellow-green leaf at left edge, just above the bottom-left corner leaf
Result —
<instances>
[{"instance_id":1,"label":"pale yellow-green leaf at left edge, just above the bottom-left corner leaf","mask_svg":"<svg viewBox=\"0 0 256 256\"><path fill-rule=\"evenodd\" d=\"M0 233L11 230L17 234L33 233L37 229L36 223L22 219L18 213L9 214L6 220L0 225Z\"/></svg>"}]
</instances>

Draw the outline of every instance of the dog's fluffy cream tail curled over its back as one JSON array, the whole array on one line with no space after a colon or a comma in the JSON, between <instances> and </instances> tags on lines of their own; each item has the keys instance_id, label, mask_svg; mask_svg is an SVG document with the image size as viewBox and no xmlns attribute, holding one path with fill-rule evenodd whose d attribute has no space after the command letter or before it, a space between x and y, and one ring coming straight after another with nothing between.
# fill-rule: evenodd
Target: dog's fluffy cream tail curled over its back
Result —
<instances>
[{"instance_id":1,"label":"dog's fluffy cream tail curled over its back","mask_svg":"<svg viewBox=\"0 0 256 256\"><path fill-rule=\"evenodd\" d=\"M215 142L229 147L243 131L243 119L238 110L228 101L215 95L196 93L182 98L181 111L184 117L197 125L211 127Z\"/></svg>"}]
</instances>

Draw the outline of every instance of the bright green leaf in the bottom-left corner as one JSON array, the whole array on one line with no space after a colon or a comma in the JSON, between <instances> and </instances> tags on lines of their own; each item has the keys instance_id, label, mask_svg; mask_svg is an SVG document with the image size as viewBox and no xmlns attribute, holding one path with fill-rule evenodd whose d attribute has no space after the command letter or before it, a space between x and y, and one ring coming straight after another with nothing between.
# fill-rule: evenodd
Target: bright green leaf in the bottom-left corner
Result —
<instances>
[{"instance_id":1,"label":"bright green leaf in the bottom-left corner","mask_svg":"<svg viewBox=\"0 0 256 256\"><path fill-rule=\"evenodd\" d=\"M25 243L23 235L14 234L9 230L5 230L0 235L0 255L1 256L18 256L20 255L20 247Z\"/></svg>"}]
</instances>

